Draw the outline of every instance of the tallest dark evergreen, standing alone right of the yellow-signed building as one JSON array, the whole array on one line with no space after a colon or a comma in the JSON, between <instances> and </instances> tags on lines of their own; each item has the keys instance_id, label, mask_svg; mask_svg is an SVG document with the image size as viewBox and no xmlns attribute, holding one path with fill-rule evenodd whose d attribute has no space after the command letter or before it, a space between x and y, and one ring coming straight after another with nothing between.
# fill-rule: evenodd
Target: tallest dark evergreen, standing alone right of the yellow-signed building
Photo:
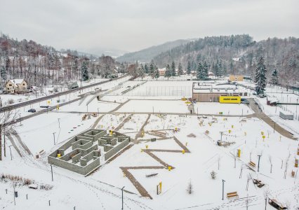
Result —
<instances>
[{"instance_id":1,"label":"tallest dark evergreen, standing alone right of the yellow-signed building","mask_svg":"<svg viewBox=\"0 0 299 210\"><path fill-rule=\"evenodd\" d=\"M265 61L263 57L258 59L258 64L255 69L255 92L256 94L263 94L266 87L266 72Z\"/></svg>"}]
</instances>

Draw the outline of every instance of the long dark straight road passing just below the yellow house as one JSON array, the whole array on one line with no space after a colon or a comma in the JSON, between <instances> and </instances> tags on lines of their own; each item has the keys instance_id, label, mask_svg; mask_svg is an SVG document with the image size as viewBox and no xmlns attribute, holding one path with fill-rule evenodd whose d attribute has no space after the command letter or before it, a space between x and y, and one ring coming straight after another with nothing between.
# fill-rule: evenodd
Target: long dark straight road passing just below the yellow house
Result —
<instances>
[{"instance_id":1,"label":"long dark straight road passing just below the yellow house","mask_svg":"<svg viewBox=\"0 0 299 210\"><path fill-rule=\"evenodd\" d=\"M118 78L114 78L112 80L118 80L118 79L124 78L126 76L128 76L127 73L124 74L123 76L120 76ZM105 83L109 83L112 80L105 80L105 81L102 81L102 82L99 82L99 83L93 83L91 85L86 85L84 87L78 87L78 88L75 88L75 89L72 89L72 90L66 90L66 91L58 92L56 94L51 94L51 95L48 95L48 96L45 96L45 97L40 97L38 99L32 99L32 100L29 100L27 102L21 102L21 103L13 104L13 105L10 105L10 106L4 106L4 107L0 108L0 113L4 112L4 111L13 110L13 109L18 109L20 107L27 106L29 104L35 104L35 103L38 103L38 102L43 102L43 101L46 101L48 99L53 99L55 97L60 97L60 96L65 95L65 94L69 94L69 93L72 93L72 92L77 92L77 91L80 91L80 90L84 90L84 89L89 88L89 87L94 87L94 86L97 86L97 85L102 85L102 84L105 84Z\"/></svg>"}]
</instances>

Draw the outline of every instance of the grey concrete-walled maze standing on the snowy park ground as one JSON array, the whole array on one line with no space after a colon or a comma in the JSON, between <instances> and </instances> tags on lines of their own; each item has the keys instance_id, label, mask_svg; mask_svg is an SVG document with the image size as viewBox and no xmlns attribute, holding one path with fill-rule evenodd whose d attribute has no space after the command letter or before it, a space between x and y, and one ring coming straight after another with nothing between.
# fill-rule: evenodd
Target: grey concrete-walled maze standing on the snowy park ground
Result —
<instances>
[{"instance_id":1,"label":"grey concrete-walled maze standing on the snowy park ground","mask_svg":"<svg viewBox=\"0 0 299 210\"><path fill-rule=\"evenodd\" d=\"M48 155L48 163L82 175L100 167L100 156L112 158L131 141L119 132L87 130L78 134Z\"/></svg>"}]
</instances>

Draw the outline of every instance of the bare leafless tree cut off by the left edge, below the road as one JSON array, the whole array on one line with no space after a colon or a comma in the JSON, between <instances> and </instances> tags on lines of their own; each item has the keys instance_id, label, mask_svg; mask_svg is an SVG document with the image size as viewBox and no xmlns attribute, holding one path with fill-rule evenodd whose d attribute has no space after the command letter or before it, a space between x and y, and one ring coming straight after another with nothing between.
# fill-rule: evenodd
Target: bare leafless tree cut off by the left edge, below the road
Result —
<instances>
[{"instance_id":1,"label":"bare leafless tree cut off by the left edge, below the road","mask_svg":"<svg viewBox=\"0 0 299 210\"><path fill-rule=\"evenodd\" d=\"M2 146L4 146L4 156L6 156L6 142L4 139L4 144L2 144L2 133L5 135L13 129L17 114L17 111L12 110L0 113L0 160L2 160Z\"/></svg>"}]
</instances>

